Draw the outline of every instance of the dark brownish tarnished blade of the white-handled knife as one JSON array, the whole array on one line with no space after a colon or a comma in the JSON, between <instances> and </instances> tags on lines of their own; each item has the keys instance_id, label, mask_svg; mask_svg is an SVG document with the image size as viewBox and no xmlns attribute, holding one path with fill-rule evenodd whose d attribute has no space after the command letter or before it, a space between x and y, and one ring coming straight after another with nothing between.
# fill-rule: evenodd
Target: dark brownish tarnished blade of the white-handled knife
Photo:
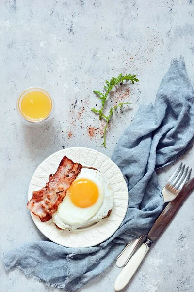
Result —
<instances>
[{"instance_id":1,"label":"dark brownish tarnished blade of the white-handled knife","mask_svg":"<svg viewBox=\"0 0 194 292\"><path fill-rule=\"evenodd\" d=\"M165 207L161 215L158 217L153 227L149 231L147 237L154 242L162 233L164 228L169 224L175 213L178 211L181 203L189 195L194 188L194 177L191 178L182 188L178 196Z\"/></svg>"}]
</instances>

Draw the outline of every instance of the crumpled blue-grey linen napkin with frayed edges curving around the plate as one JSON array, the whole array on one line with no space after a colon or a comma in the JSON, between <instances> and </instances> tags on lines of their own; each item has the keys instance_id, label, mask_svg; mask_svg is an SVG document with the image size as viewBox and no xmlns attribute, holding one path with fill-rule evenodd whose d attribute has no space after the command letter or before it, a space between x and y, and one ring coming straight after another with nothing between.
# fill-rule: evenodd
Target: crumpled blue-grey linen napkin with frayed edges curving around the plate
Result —
<instances>
[{"instance_id":1,"label":"crumpled blue-grey linen napkin with frayed edges curving around the plate","mask_svg":"<svg viewBox=\"0 0 194 292\"><path fill-rule=\"evenodd\" d=\"M76 291L109 267L125 243L148 232L162 211L155 169L192 146L194 91L182 58L172 61L155 104L141 106L113 153L129 189L126 217L115 234L90 248L66 248L49 241L26 243L4 254L6 270L21 269L49 286Z\"/></svg>"}]
</instances>

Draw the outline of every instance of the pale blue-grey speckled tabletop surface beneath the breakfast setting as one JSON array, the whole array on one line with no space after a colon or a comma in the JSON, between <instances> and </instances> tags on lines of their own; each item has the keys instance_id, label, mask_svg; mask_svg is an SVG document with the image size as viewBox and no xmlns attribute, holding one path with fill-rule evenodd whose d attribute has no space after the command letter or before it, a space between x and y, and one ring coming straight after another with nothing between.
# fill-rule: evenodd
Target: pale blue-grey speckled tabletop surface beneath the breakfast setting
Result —
<instances>
[{"instance_id":1,"label":"pale blue-grey speckled tabletop surface beneath the breakfast setting","mask_svg":"<svg viewBox=\"0 0 194 292\"><path fill-rule=\"evenodd\" d=\"M139 104L154 101L171 59L181 54L194 85L194 0L0 1L1 258L5 250L45 239L26 209L36 167L62 147L92 147L110 157ZM99 106L92 91L121 72L140 82L114 92L114 103L133 105L115 115L105 149L103 125L90 112ZM55 118L38 129L21 125L16 113L16 98L31 86L45 88L55 101ZM194 150L181 159L194 166ZM177 165L160 171L161 186ZM1 292L59 291L0 267ZM114 264L81 291L113 292L118 273ZM194 193L124 291L194 291Z\"/></svg>"}]
</instances>

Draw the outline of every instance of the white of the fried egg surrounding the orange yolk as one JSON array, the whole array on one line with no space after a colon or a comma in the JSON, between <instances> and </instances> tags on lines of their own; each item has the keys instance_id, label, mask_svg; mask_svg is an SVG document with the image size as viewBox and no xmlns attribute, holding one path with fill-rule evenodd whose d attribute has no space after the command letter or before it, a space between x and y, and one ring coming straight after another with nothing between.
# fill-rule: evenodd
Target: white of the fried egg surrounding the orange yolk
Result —
<instances>
[{"instance_id":1,"label":"white of the fried egg surrounding the orange yolk","mask_svg":"<svg viewBox=\"0 0 194 292\"><path fill-rule=\"evenodd\" d=\"M109 181L99 171L82 168L76 180L81 178L87 178L97 185L99 192L98 199L94 205L87 208L80 208L72 203L69 191L67 191L57 212L52 216L53 222L61 229L77 229L98 222L106 217L108 211L113 208L113 191L109 186Z\"/></svg>"}]
</instances>

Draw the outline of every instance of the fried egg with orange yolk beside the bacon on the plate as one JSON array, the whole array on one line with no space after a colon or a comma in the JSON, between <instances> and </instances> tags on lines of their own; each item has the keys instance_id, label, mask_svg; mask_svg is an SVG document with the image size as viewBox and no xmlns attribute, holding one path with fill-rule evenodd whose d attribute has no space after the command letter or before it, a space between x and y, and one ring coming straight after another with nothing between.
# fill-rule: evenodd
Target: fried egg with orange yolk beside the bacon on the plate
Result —
<instances>
[{"instance_id":1,"label":"fried egg with orange yolk beside the bacon on the plate","mask_svg":"<svg viewBox=\"0 0 194 292\"><path fill-rule=\"evenodd\" d=\"M52 220L61 229L77 229L98 222L112 208L109 181L95 169L82 168Z\"/></svg>"}]
</instances>

